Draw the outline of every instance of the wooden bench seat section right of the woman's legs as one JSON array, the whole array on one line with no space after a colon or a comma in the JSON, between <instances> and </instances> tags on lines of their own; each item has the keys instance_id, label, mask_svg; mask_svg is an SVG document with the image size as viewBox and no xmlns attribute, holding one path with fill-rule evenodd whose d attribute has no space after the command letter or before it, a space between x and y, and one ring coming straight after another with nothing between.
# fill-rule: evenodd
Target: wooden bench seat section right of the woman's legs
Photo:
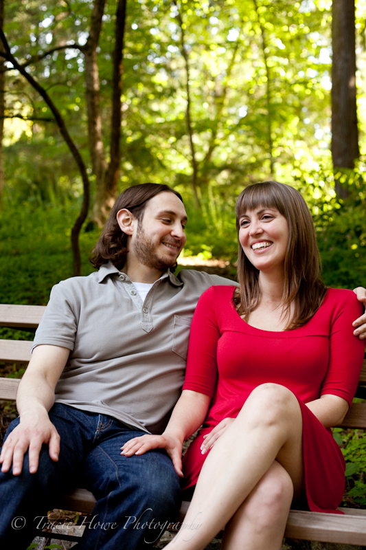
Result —
<instances>
[{"instance_id":1,"label":"wooden bench seat section right of the woman's legs","mask_svg":"<svg viewBox=\"0 0 366 550\"><path fill-rule=\"evenodd\" d=\"M366 541L366 517L291 510L285 537L363 545Z\"/></svg>"}]
</instances>

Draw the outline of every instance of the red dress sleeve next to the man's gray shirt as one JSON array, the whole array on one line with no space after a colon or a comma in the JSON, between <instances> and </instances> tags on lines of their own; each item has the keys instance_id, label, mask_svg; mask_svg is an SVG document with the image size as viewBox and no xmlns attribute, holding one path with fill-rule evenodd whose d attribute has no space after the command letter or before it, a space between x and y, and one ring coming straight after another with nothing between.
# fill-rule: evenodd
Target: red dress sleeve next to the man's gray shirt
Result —
<instances>
[{"instance_id":1,"label":"red dress sleeve next to the man's gray shirt","mask_svg":"<svg viewBox=\"0 0 366 550\"><path fill-rule=\"evenodd\" d=\"M219 338L215 291L211 287L198 300L194 312L183 390L214 397L218 376L216 357Z\"/></svg>"}]
</instances>

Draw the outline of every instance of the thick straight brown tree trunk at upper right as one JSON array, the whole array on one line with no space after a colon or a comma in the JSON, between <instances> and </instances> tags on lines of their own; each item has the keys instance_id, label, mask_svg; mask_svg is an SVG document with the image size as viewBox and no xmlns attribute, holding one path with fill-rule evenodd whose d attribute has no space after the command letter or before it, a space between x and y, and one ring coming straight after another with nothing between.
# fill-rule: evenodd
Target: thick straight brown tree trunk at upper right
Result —
<instances>
[{"instance_id":1,"label":"thick straight brown tree trunk at upper right","mask_svg":"<svg viewBox=\"0 0 366 550\"><path fill-rule=\"evenodd\" d=\"M333 0L332 7L332 160L339 168L354 168L358 158L356 110L356 39L354 0ZM336 194L348 196L347 188L335 181Z\"/></svg>"}]
</instances>

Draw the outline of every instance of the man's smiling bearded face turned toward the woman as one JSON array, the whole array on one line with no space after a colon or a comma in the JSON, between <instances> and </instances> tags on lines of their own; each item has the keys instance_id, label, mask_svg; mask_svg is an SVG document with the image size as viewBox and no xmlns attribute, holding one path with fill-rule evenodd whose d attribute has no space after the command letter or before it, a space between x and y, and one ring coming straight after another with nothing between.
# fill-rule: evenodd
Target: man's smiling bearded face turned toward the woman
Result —
<instances>
[{"instance_id":1,"label":"man's smiling bearded face turned toward the woman","mask_svg":"<svg viewBox=\"0 0 366 550\"><path fill-rule=\"evenodd\" d=\"M144 217L130 241L129 254L153 270L164 272L176 263L186 236L187 214L174 193L164 191L146 204Z\"/></svg>"}]
</instances>

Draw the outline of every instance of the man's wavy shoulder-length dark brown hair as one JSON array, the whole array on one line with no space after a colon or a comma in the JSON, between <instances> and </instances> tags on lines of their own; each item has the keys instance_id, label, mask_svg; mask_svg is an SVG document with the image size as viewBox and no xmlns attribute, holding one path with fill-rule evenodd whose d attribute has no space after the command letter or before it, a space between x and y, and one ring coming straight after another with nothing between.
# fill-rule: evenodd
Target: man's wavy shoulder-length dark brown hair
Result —
<instances>
[{"instance_id":1,"label":"man's wavy shoulder-length dark brown hair","mask_svg":"<svg viewBox=\"0 0 366 550\"><path fill-rule=\"evenodd\" d=\"M111 210L111 214L106 221L106 225L100 234L98 242L91 252L89 261L93 267L99 268L104 263L111 261L118 270L124 267L127 255L127 235L122 232L117 222L117 212L126 208L133 214L139 222L144 217L146 203L159 195L161 192L171 192L176 195L182 202L183 199L179 192L174 191L165 184L139 184L133 185L125 189L115 201Z\"/></svg>"}]
</instances>

